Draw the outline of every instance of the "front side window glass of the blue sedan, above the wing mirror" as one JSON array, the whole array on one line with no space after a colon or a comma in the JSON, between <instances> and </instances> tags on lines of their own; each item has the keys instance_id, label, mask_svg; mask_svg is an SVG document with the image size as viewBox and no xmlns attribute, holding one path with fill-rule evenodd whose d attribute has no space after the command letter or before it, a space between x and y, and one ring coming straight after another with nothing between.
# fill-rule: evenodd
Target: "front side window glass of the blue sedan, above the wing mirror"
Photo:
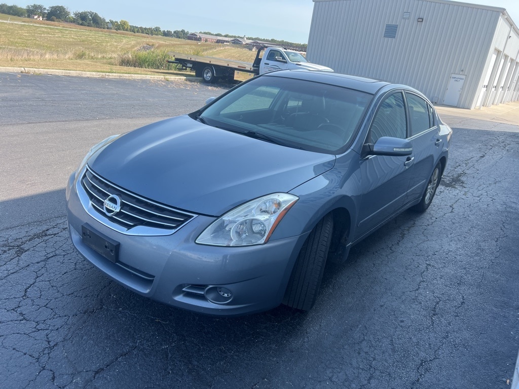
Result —
<instances>
[{"instance_id":1,"label":"front side window glass of the blue sedan, above the wing mirror","mask_svg":"<svg viewBox=\"0 0 519 389\"><path fill-rule=\"evenodd\" d=\"M407 120L402 92L389 95L378 107L371 124L368 143L375 143L383 136L405 139Z\"/></svg>"}]
</instances>

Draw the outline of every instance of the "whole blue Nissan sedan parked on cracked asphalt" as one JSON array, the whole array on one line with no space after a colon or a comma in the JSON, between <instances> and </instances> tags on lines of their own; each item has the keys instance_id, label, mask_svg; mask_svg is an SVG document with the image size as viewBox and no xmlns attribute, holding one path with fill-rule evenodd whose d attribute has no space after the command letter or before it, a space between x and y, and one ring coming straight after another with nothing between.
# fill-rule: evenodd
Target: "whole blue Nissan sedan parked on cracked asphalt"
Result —
<instances>
[{"instance_id":1,"label":"whole blue Nissan sedan parked on cracked asphalt","mask_svg":"<svg viewBox=\"0 0 519 389\"><path fill-rule=\"evenodd\" d=\"M70 236L113 280L174 307L309 310L326 260L428 209L451 135L410 87L267 73L93 146L67 185Z\"/></svg>"}]
</instances>

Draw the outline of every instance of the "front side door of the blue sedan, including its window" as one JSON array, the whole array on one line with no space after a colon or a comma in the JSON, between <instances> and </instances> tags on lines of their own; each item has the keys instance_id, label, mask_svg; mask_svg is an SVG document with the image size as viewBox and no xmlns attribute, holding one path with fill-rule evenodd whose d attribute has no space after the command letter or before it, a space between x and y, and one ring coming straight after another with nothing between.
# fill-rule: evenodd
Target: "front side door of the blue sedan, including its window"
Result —
<instances>
[{"instance_id":1,"label":"front side door of the blue sedan, including its window","mask_svg":"<svg viewBox=\"0 0 519 389\"><path fill-rule=\"evenodd\" d=\"M379 104L366 137L374 144L380 137L407 138L407 116L402 91L393 92ZM409 166L413 156L361 156L362 200L357 218L359 238L399 211L406 201Z\"/></svg>"}]
</instances>

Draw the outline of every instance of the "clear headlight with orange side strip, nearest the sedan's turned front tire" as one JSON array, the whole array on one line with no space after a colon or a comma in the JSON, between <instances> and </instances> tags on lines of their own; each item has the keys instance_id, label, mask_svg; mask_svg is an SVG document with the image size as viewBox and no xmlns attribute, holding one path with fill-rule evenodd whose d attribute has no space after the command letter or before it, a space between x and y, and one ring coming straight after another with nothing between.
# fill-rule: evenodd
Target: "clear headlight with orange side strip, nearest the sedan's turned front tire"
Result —
<instances>
[{"instance_id":1,"label":"clear headlight with orange side strip, nearest the sedan's turned front tire","mask_svg":"<svg viewBox=\"0 0 519 389\"><path fill-rule=\"evenodd\" d=\"M215 220L200 234L196 243L213 246L267 243L278 223L297 200L297 196L288 193L274 193L249 201Z\"/></svg>"}]
</instances>

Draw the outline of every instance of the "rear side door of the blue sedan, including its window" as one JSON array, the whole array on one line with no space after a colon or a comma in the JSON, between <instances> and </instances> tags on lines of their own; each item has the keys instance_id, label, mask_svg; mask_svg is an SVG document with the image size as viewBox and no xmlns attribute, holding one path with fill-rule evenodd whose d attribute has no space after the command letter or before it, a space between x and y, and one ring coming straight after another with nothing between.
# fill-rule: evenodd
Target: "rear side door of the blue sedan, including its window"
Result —
<instances>
[{"instance_id":1,"label":"rear side door of the blue sedan, including its window","mask_svg":"<svg viewBox=\"0 0 519 389\"><path fill-rule=\"evenodd\" d=\"M421 96L405 92L409 114L409 141L413 145L414 161L410 170L407 202L421 198L441 152L442 140L434 122L432 106Z\"/></svg>"}]
</instances>

